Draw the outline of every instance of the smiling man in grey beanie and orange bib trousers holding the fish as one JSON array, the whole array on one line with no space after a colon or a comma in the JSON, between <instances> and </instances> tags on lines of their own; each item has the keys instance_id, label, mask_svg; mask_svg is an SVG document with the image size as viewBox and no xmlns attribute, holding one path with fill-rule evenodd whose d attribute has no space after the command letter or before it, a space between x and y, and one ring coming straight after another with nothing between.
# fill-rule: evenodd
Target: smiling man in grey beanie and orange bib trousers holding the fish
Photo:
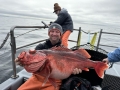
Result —
<instances>
[{"instance_id":1,"label":"smiling man in grey beanie and orange bib trousers holding the fish","mask_svg":"<svg viewBox=\"0 0 120 90\"><path fill-rule=\"evenodd\" d=\"M46 42L36 46L36 50L49 49L54 46L61 45L61 35L63 33L62 27L59 24L53 23L48 29L49 39ZM21 65L18 58L15 59L18 65ZM22 65L21 65L22 66ZM79 74L81 69L74 69L73 74ZM54 86L47 81L44 86L42 86L45 77L33 74L23 85L21 85L18 90L54 90ZM61 80L56 80L58 89L61 85Z\"/></svg>"}]
</instances>

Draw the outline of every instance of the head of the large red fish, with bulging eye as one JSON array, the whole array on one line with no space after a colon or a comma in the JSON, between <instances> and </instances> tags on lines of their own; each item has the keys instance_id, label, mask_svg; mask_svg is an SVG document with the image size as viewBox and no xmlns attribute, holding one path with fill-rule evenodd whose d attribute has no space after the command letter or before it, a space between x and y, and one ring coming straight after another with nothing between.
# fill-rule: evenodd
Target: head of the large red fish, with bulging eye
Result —
<instances>
[{"instance_id":1,"label":"head of the large red fish, with bulging eye","mask_svg":"<svg viewBox=\"0 0 120 90\"><path fill-rule=\"evenodd\" d=\"M29 51L21 52L18 55L18 59L28 72L35 72L44 65L46 54L30 49Z\"/></svg>"}]
</instances>

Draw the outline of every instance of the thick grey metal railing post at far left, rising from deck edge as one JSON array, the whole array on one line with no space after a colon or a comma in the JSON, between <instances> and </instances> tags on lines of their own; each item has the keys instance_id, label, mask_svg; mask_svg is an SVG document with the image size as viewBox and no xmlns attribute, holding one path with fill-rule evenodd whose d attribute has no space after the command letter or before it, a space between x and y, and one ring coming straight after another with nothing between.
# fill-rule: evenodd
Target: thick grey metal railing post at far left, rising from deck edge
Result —
<instances>
[{"instance_id":1,"label":"thick grey metal railing post at far left, rising from deck edge","mask_svg":"<svg viewBox=\"0 0 120 90\"><path fill-rule=\"evenodd\" d=\"M16 75L16 64L15 64L15 53L16 53L16 43L15 43L15 37L14 37L14 29L15 27L12 27L10 29L10 36L11 36L11 42L10 42L10 46L11 46L11 53L12 53L12 65L13 65L13 75L11 76L11 78L15 79L18 77L18 75Z\"/></svg>"}]
</instances>

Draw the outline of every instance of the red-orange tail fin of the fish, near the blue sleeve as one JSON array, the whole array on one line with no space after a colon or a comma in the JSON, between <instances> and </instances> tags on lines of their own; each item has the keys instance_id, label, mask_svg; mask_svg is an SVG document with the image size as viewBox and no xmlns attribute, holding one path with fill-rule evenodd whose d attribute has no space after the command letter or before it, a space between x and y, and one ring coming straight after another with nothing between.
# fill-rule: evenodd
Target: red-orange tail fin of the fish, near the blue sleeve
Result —
<instances>
[{"instance_id":1,"label":"red-orange tail fin of the fish, near the blue sleeve","mask_svg":"<svg viewBox=\"0 0 120 90\"><path fill-rule=\"evenodd\" d=\"M109 68L109 65L104 62L97 62L95 66L95 71L100 78L104 77L104 72Z\"/></svg>"}]
</instances>

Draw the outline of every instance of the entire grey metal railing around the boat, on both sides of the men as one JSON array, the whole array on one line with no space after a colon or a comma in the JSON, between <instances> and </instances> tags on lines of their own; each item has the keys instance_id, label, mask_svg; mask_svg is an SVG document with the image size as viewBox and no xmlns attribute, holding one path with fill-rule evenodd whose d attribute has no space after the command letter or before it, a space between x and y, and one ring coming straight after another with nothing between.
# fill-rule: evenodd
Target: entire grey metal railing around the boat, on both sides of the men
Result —
<instances>
[{"instance_id":1,"label":"entire grey metal railing around the boat, on both sides of the men","mask_svg":"<svg viewBox=\"0 0 120 90\"><path fill-rule=\"evenodd\" d=\"M33 42L33 43L30 43L30 44L27 44L27 45L24 45L24 46L20 46L20 47L16 47L16 40L15 40L15 36L14 36L14 30L16 28L48 28L46 25L45 26L14 26L10 29L10 45L11 45L11 53L12 53L12 65L13 65L13 75L12 75L12 78L17 78L17 74L16 74L16 64L14 62L15 60L15 54L16 54L16 50L18 49L21 49L23 47L27 47L27 46L30 46L30 45L33 45L33 44L36 44L36 43L39 43L39 42L43 42L45 41L46 39L44 40L40 40L40 41L36 41L36 42ZM86 34L93 34L95 37L92 38L92 44L91 46L94 46L94 43L95 43L95 40L96 40L96 32L95 33L88 33L88 32L85 32L84 30L81 29L81 27L79 29L74 29L74 31L78 31L78 37L77 37L77 40L69 40L70 42L75 42L76 43L76 46L80 47L80 41L81 41L81 33L86 33ZM103 32L103 30L101 29L99 32L99 36L98 36L98 40L97 40L97 45L96 45L96 51L98 51L99 47L101 46L100 44L100 41L101 41L101 35L102 34L112 34L112 35L120 35L118 33L109 33L109 32ZM109 45L102 45L102 46L107 46L107 47L110 47ZM115 47L115 46L111 46L111 47Z\"/></svg>"}]
</instances>

